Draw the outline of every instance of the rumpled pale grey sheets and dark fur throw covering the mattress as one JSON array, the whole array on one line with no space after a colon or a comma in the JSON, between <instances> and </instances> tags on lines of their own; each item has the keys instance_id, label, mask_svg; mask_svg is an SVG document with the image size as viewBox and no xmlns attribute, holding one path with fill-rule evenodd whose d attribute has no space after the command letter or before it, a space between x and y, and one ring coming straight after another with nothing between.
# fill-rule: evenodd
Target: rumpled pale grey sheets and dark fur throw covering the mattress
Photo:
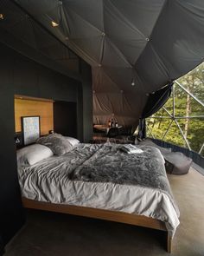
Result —
<instances>
[{"instance_id":1,"label":"rumpled pale grey sheets and dark fur throw covering the mattress","mask_svg":"<svg viewBox=\"0 0 204 256\"><path fill-rule=\"evenodd\" d=\"M179 211L170 192L162 154L156 148L143 146L143 153L139 154L143 154L141 160L137 153L126 154L119 147L117 144L80 143L67 154L54 155L30 167L18 166L22 196L30 200L144 215L164 221L173 236L179 225ZM147 152L149 155L145 158ZM156 158L156 161L143 162L142 170L137 168L141 161L150 158ZM135 169L136 178L134 182L131 176L122 182L118 178L104 180L102 172L99 180L92 179L89 173L86 175L88 180L83 181L81 171L85 174L86 167L90 166L93 172L106 170L106 174L116 172L115 176L123 174L123 169L126 175L131 167L131 175Z\"/></svg>"}]
</instances>

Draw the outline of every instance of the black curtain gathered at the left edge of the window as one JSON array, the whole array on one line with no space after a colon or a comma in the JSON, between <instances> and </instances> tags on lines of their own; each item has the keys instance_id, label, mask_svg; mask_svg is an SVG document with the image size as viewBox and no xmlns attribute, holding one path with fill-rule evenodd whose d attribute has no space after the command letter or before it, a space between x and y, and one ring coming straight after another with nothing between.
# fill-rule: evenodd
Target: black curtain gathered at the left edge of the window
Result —
<instances>
[{"instance_id":1,"label":"black curtain gathered at the left edge of the window","mask_svg":"<svg viewBox=\"0 0 204 256\"><path fill-rule=\"evenodd\" d=\"M146 105L143 108L143 114L139 119L138 138L144 139L146 137L145 118L155 114L168 101L173 84L174 82L169 82L163 89L157 90L154 94L149 95Z\"/></svg>"}]
</instances>

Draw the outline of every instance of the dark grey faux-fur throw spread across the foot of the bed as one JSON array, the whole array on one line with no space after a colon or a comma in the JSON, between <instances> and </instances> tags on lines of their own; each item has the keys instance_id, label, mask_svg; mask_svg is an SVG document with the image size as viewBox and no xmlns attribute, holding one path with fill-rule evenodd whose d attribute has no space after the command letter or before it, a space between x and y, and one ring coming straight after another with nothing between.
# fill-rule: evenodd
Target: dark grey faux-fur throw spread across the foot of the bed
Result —
<instances>
[{"instance_id":1,"label":"dark grey faux-fur throw spread across the foot of the bed","mask_svg":"<svg viewBox=\"0 0 204 256\"><path fill-rule=\"evenodd\" d=\"M140 146L141 149L137 149L142 151L141 154L126 154L121 148L132 148L133 145L106 143L99 146L83 164L68 174L70 180L156 188L169 196L179 216L165 171L163 155L157 148Z\"/></svg>"}]
</instances>

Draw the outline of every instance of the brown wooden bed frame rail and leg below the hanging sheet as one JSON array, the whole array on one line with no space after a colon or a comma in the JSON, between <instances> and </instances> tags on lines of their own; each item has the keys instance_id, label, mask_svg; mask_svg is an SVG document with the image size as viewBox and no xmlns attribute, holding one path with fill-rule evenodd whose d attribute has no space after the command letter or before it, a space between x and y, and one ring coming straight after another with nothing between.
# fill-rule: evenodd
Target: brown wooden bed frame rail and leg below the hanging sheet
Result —
<instances>
[{"instance_id":1,"label":"brown wooden bed frame rail and leg below the hanging sheet","mask_svg":"<svg viewBox=\"0 0 204 256\"><path fill-rule=\"evenodd\" d=\"M70 205L53 204L37 200L22 198L22 205L29 209L39 209L55 213L68 213L100 220L112 220L116 222L131 224L135 226L145 226L167 232L167 252L171 253L172 238L169 236L165 223L150 217L131 213L121 213L116 211L102 210L91 207L76 207Z\"/></svg>"}]
</instances>

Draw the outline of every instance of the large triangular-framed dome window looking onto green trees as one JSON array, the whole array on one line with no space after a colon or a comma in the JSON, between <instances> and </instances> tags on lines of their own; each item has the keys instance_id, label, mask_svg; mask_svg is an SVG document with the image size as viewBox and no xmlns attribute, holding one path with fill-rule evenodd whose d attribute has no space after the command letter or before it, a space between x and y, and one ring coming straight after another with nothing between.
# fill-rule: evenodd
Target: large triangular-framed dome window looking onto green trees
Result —
<instances>
[{"instance_id":1,"label":"large triangular-framed dome window looking onto green trees","mask_svg":"<svg viewBox=\"0 0 204 256\"><path fill-rule=\"evenodd\" d=\"M175 81L168 102L146 123L147 136L204 155L204 62Z\"/></svg>"}]
</instances>

